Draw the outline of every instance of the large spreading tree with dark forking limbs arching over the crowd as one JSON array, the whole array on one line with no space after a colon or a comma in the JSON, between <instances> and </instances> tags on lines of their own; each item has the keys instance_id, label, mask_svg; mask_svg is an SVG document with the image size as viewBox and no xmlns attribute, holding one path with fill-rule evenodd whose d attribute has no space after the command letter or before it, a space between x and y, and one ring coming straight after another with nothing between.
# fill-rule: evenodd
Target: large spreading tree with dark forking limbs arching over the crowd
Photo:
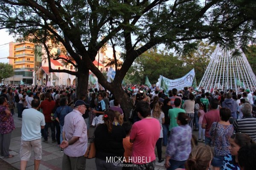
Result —
<instances>
[{"instance_id":1,"label":"large spreading tree with dark forking limbs arching over the crowd","mask_svg":"<svg viewBox=\"0 0 256 170\"><path fill-rule=\"evenodd\" d=\"M180 51L206 38L245 47L256 28L255 11L255 0L1 0L0 28L42 43L48 61L63 59L75 66L76 72L55 70L49 62L49 71L76 75L79 94L86 93L91 70L103 87L122 98L127 113L121 83L137 57L160 43ZM49 40L64 45L70 57L50 54ZM124 53L111 83L93 65L105 43Z\"/></svg>"}]
</instances>

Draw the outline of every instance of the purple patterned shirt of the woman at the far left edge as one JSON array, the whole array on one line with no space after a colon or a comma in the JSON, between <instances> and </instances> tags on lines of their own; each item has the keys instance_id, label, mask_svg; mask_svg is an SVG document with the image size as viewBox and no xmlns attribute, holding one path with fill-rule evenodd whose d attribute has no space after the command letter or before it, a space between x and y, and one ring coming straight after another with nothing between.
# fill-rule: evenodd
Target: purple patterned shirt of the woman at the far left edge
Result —
<instances>
[{"instance_id":1,"label":"purple patterned shirt of the woman at the far left edge","mask_svg":"<svg viewBox=\"0 0 256 170\"><path fill-rule=\"evenodd\" d=\"M6 120L3 121L3 118L6 116L6 106L0 106L0 134L6 134L15 130L14 120L12 115Z\"/></svg>"}]
</instances>

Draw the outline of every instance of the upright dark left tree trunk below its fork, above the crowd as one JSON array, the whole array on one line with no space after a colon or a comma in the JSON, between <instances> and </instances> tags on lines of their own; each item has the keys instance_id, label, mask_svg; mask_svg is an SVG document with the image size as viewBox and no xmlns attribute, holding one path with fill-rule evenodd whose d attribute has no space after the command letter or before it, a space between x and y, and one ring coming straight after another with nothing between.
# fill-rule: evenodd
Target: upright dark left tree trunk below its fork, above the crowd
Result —
<instances>
[{"instance_id":1,"label":"upright dark left tree trunk below its fork, above the crowd","mask_svg":"<svg viewBox=\"0 0 256 170\"><path fill-rule=\"evenodd\" d=\"M88 81L89 81L89 70L82 69L81 71L78 71L77 86L76 86L76 96L78 97L78 99L81 99L82 94L84 94L87 99Z\"/></svg>"}]
</instances>

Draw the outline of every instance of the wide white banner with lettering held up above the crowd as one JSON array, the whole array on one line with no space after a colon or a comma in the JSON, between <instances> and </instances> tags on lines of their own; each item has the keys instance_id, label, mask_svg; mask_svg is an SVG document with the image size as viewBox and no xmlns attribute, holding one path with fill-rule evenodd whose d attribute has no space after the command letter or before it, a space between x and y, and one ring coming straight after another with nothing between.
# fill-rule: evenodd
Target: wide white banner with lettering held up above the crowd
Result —
<instances>
[{"instance_id":1,"label":"wide white banner with lettering held up above the crowd","mask_svg":"<svg viewBox=\"0 0 256 170\"><path fill-rule=\"evenodd\" d=\"M173 88L177 88L177 90L182 90L184 89L184 87L192 87L194 77L194 68L191 71L189 71L188 74L179 79L167 79L166 77L160 75L159 87L163 88L166 92L172 90Z\"/></svg>"}]
</instances>

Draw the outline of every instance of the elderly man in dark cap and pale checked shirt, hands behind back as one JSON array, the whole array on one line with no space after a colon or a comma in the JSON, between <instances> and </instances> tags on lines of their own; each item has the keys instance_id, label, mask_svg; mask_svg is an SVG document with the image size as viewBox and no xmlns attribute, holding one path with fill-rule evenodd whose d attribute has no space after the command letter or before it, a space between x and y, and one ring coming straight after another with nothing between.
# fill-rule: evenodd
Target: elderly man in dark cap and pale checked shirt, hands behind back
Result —
<instances>
[{"instance_id":1,"label":"elderly man in dark cap and pale checked shirt, hands behind back","mask_svg":"<svg viewBox=\"0 0 256 170\"><path fill-rule=\"evenodd\" d=\"M65 116L61 142L61 148L64 149L62 170L85 170L87 126L82 115L86 105L84 101L77 100L73 111Z\"/></svg>"}]
</instances>

